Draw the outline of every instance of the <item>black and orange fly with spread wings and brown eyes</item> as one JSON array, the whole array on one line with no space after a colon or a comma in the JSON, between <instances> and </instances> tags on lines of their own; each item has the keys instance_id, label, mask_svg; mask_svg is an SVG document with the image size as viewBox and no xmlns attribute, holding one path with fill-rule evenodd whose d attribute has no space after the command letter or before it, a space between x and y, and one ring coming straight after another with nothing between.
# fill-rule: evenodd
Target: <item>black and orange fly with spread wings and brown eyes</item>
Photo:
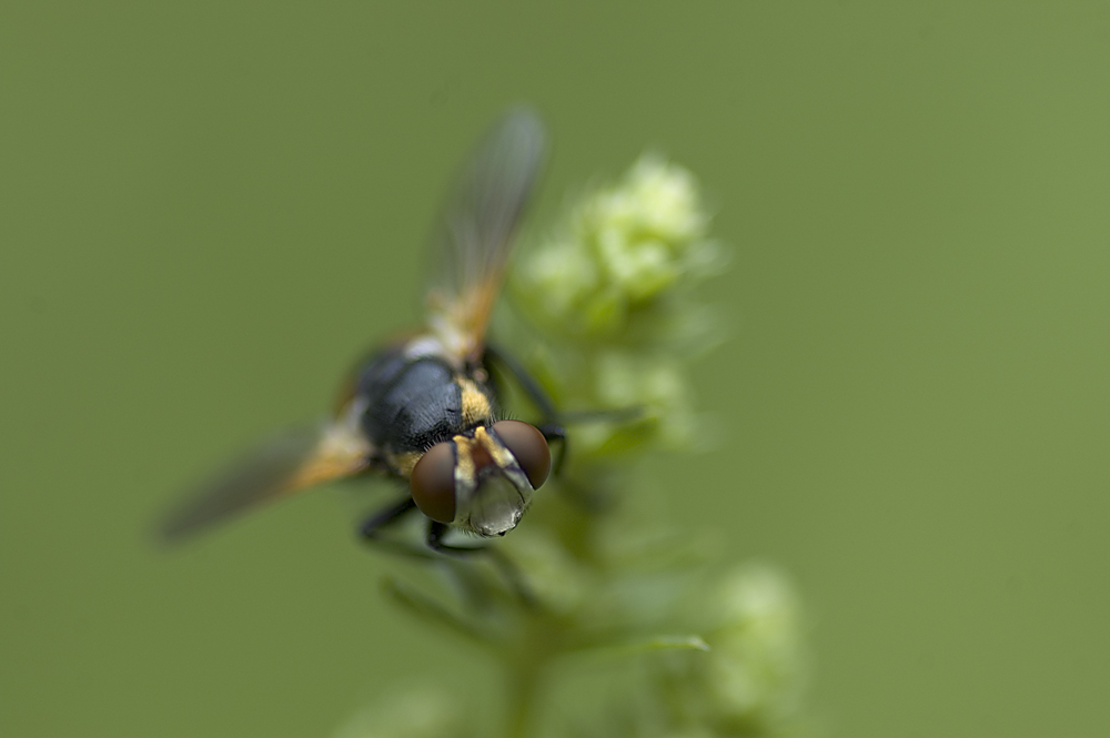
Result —
<instances>
[{"instance_id":1,"label":"black and orange fly with spread wings and brown eyes","mask_svg":"<svg viewBox=\"0 0 1110 738\"><path fill-rule=\"evenodd\" d=\"M178 539L265 502L365 474L404 481L408 494L363 525L382 528L420 510L427 544L457 550L451 529L503 536L521 522L552 468L554 424L503 419L492 378L516 376L541 411L554 410L516 365L486 344L513 236L539 173L544 129L535 113L505 115L474 152L433 244L427 324L363 363L317 428L282 434L213 477L161 532ZM465 548L463 548L465 550Z\"/></svg>"}]
</instances>

